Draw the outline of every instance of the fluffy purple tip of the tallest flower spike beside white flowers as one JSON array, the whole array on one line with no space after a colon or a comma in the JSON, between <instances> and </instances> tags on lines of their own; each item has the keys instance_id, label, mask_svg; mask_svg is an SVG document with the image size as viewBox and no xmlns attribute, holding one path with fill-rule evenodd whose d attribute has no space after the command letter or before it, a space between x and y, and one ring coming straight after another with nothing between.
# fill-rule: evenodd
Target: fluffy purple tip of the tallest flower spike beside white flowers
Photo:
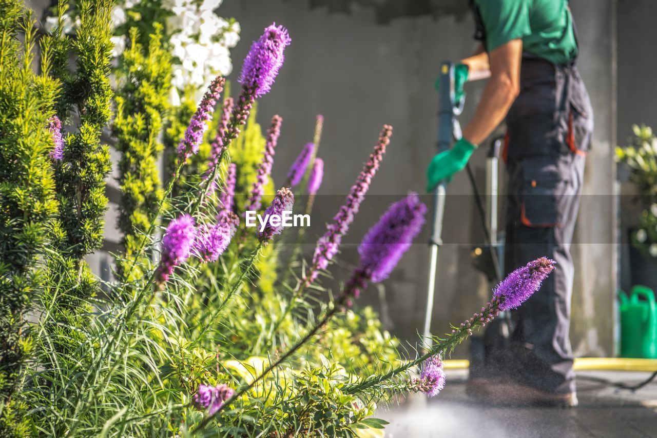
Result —
<instances>
[{"instance_id":1,"label":"fluffy purple tip of the tallest flower spike beside white flowers","mask_svg":"<svg viewBox=\"0 0 657 438\"><path fill-rule=\"evenodd\" d=\"M290 45L290 35L283 26L273 23L251 45L244 59L239 83L252 89L256 97L261 97L271 89L283 65L285 47Z\"/></svg>"}]
</instances>

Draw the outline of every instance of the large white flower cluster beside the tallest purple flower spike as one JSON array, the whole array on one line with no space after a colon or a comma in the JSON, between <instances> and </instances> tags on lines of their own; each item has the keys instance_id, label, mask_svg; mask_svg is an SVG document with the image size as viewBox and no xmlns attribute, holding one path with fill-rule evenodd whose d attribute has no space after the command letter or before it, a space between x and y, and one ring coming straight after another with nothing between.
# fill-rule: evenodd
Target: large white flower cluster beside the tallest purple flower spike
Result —
<instances>
[{"instance_id":1,"label":"large white flower cluster beside the tallest purple flower spike","mask_svg":"<svg viewBox=\"0 0 657 438\"><path fill-rule=\"evenodd\" d=\"M230 74L233 65L229 49L240 39L240 26L214 13L221 0L163 0L162 3L173 12L167 28L173 56L180 62L173 65L173 85L178 89L187 84L205 87L218 74Z\"/></svg>"}]
</instances>

